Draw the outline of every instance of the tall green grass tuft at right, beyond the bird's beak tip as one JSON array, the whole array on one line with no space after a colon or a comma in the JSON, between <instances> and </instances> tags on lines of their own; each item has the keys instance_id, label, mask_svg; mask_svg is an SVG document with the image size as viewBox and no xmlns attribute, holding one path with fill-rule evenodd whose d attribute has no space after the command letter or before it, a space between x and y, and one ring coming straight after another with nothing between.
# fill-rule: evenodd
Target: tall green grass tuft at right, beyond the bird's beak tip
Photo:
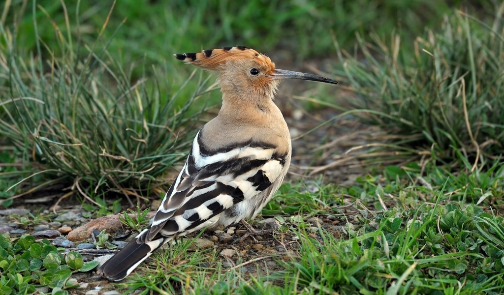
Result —
<instances>
[{"instance_id":1,"label":"tall green grass tuft at right, beyond the bird's beak tip","mask_svg":"<svg viewBox=\"0 0 504 295\"><path fill-rule=\"evenodd\" d=\"M361 56L339 55L363 118L457 169L488 169L504 146L504 5L488 21L456 12L413 42L358 39ZM406 43L406 46L405 44Z\"/></svg>"}]
</instances>

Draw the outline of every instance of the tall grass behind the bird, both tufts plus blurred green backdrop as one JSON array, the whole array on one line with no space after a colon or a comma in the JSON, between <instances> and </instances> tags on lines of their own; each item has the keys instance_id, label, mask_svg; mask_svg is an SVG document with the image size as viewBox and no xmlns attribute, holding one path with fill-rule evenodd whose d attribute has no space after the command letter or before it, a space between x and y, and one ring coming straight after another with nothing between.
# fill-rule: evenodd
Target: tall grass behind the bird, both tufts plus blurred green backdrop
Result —
<instances>
[{"instance_id":1,"label":"tall grass behind the bird, both tufts plus blurred green backdrop","mask_svg":"<svg viewBox=\"0 0 504 295\"><path fill-rule=\"evenodd\" d=\"M323 62L347 92L313 99L348 99L365 122L402 136L389 147L412 160L432 152L473 171L500 159L503 6L496 0L1 6L0 187L10 200L59 182L95 202L107 192L161 193L153 190L159 176L183 158L201 112L220 101L207 73L192 74L172 54L236 44L293 68Z\"/></svg>"}]
</instances>

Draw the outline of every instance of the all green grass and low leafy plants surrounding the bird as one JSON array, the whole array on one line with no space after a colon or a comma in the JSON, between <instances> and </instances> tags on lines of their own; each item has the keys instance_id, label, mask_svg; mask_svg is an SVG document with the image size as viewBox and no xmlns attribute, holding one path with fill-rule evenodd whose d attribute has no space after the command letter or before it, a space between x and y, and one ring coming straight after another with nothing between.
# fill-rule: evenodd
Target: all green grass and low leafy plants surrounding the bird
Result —
<instances>
[{"instance_id":1,"label":"all green grass and low leafy plants surrounding the bird","mask_svg":"<svg viewBox=\"0 0 504 295\"><path fill-rule=\"evenodd\" d=\"M453 9L465 4L469 14ZM270 252L244 244L228 260L223 245L200 250L194 237L184 238L114 286L144 294L502 293L504 5L478 2L474 11L470 4L121 1L111 11L93 1L6 2L3 205L56 190L61 199L80 198L92 218L120 212L119 198L130 208L135 199L158 198L165 173L219 98L206 74L167 60L173 52L241 43L290 52L294 62L338 55L352 108L320 102L334 94L306 100L347 111L321 126L350 114L387 135L349 151L379 155L362 158L369 160L356 181L283 184L263 210L280 224ZM125 212L124 227L142 230L146 212ZM19 223L37 218L48 216ZM96 244L114 247L110 239L102 232ZM81 281L72 275L93 265L83 268L82 257L49 244L2 236L2 292L73 291Z\"/></svg>"}]
</instances>

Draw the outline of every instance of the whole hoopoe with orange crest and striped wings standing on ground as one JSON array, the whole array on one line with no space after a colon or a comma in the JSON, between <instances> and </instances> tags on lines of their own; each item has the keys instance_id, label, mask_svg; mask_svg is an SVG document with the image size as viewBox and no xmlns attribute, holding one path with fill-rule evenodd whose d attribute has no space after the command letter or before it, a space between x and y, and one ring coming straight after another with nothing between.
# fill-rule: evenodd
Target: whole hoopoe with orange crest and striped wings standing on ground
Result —
<instances>
[{"instance_id":1,"label":"whole hoopoe with orange crest and striped wings standing on ground","mask_svg":"<svg viewBox=\"0 0 504 295\"><path fill-rule=\"evenodd\" d=\"M273 102L281 80L338 84L310 73L277 69L268 55L245 46L174 54L218 73L222 106L196 134L180 173L152 223L98 270L111 281L127 277L176 237L255 218L280 187L291 162L289 128Z\"/></svg>"}]
</instances>

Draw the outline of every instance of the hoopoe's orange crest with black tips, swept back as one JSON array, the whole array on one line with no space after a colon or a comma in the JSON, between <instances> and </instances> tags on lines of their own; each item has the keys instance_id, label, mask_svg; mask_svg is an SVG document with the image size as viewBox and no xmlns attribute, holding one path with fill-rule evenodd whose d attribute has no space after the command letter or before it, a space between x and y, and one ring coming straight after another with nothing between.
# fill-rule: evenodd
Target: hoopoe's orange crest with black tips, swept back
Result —
<instances>
[{"instance_id":1,"label":"hoopoe's orange crest with black tips, swept back","mask_svg":"<svg viewBox=\"0 0 504 295\"><path fill-rule=\"evenodd\" d=\"M180 53L173 54L173 56L179 60L210 70L220 70L226 62L238 60L254 60L271 72L275 70L275 63L267 55L245 46L206 49L198 53Z\"/></svg>"}]
</instances>

